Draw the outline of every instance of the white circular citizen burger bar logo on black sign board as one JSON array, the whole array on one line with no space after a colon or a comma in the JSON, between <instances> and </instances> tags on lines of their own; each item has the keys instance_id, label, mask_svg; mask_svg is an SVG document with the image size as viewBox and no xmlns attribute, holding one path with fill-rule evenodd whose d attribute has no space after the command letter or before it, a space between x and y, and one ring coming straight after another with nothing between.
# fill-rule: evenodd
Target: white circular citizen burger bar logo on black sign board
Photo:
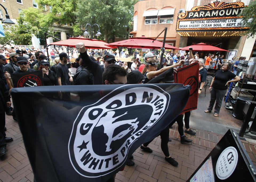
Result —
<instances>
[{"instance_id":1,"label":"white circular citizen burger bar logo on black sign board","mask_svg":"<svg viewBox=\"0 0 256 182\"><path fill-rule=\"evenodd\" d=\"M227 179L237 166L238 153L235 147L227 147L221 152L216 164L216 174L219 179Z\"/></svg>"}]
</instances>

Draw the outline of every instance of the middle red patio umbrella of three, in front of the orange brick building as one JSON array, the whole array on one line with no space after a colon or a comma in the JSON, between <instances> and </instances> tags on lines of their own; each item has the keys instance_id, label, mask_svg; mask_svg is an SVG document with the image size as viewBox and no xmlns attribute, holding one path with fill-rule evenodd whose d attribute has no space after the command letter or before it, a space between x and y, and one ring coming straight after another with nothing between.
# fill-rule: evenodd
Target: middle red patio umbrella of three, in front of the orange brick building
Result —
<instances>
[{"instance_id":1,"label":"middle red patio umbrella of three, in front of the orange brick building","mask_svg":"<svg viewBox=\"0 0 256 182\"><path fill-rule=\"evenodd\" d=\"M147 48L147 49L160 49L163 47L163 43L154 39L147 38L145 36L134 37L127 40L121 40L118 42L113 42L110 44L106 44L107 46L117 46L117 47L131 47L131 48ZM180 50L177 47L171 46L169 44L165 44L165 49L174 49Z\"/></svg>"}]
</instances>

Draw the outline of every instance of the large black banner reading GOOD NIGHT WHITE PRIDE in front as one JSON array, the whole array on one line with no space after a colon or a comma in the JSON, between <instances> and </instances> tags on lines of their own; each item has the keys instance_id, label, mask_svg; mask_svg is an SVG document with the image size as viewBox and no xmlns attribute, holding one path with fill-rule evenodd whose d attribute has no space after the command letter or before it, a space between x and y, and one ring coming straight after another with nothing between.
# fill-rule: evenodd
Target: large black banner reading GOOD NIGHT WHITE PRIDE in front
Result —
<instances>
[{"instance_id":1,"label":"large black banner reading GOOD NIGHT WHITE PRIDE in front","mask_svg":"<svg viewBox=\"0 0 256 182\"><path fill-rule=\"evenodd\" d=\"M71 98L55 98L59 92ZM11 90L37 182L110 179L181 113L189 93L182 84Z\"/></svg>"}]
</instances>

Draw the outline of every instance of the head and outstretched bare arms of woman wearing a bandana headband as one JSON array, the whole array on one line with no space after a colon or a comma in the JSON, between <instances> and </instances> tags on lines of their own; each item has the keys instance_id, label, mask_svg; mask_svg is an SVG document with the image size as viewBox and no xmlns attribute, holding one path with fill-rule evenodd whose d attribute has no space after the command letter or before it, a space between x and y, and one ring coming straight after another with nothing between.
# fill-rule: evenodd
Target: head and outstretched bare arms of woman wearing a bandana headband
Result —
<instances>
[{"instance_id":1,"label":"head and outstretched bare arms of woman wearing a bandana headband","mask_svg":"<svg viewBox=\"0 0 256 182\"><path fill-rule=\"evenodd\" d=\"M143 84L146 84L147 82L149 82L149 80L151 80L152 78L154 78L155 76L160 75L161 73L167 71L169 68L175 68L178 66L181 66L183 64L184 60L179 61L179 63L171 65L171 66L166 66L163 67L161 69L157 70L157 65L158 65L158 61L150 58L147 61L147 65L143 68L142 71L142 75L146 76L147 78L144 80Z\"/></svg>"}]
</instances>

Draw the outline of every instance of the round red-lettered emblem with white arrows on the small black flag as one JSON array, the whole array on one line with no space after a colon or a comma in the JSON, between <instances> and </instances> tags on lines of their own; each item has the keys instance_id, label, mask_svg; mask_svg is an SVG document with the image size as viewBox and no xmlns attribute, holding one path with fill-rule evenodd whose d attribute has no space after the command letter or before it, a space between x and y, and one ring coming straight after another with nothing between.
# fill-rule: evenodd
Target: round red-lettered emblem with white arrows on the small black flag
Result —
<instances>
[{"instance_id":1,"label":"round red-lettered emblem with white arrows on the small black flag","mask_svg":"<svg viewBox=\"0 0 256 182\"><path fill-rule=\"evenodd\" d=\"M42 86L42 82L36 75L25 75L18 80L17 87L27 86Z\"/></svg>"}]
</instances>

